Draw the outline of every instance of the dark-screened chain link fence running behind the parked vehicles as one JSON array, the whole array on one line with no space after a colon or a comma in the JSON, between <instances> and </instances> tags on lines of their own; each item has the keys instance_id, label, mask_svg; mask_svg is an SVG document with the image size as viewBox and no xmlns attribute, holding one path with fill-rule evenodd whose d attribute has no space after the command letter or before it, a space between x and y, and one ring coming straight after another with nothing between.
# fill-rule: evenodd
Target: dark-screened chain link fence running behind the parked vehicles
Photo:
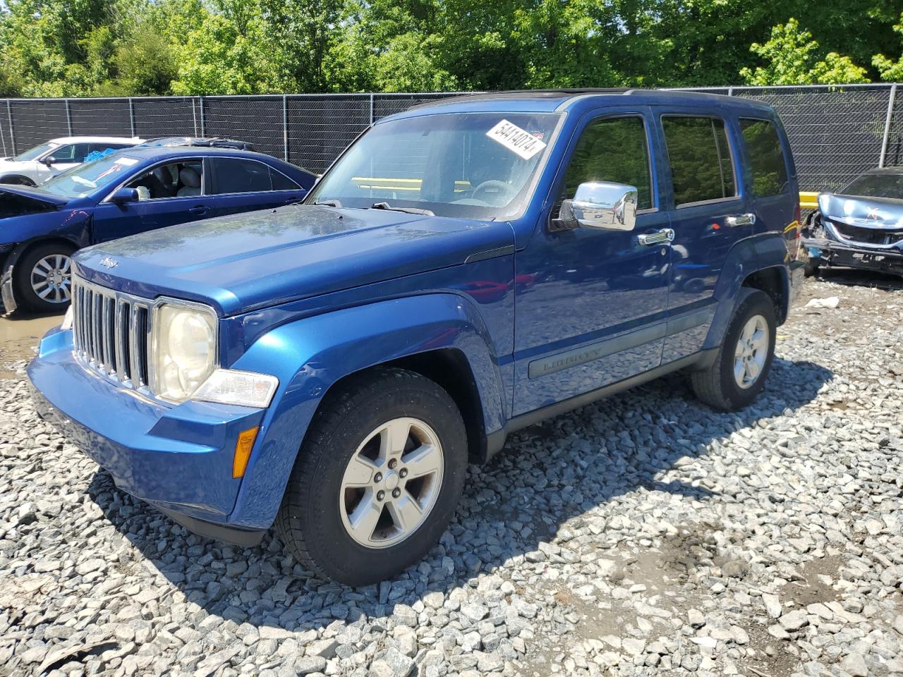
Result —
<instances>
[{"instance_id":1,"label":"dark-screened chain link fence running behind the parked vehicles","mask_svg":"<svg viewBox=\"0 0 903 677\"><path fill-rule=\"evenodd\" d=\"M864 170L903 165L903 88L893 84L723 87L777 109L802 190L835 190ZM290 94L260 97L0 99L0 156L58 136L227 136L322 172L381 117L454 96Z\"/></svg>"}]
</instances>

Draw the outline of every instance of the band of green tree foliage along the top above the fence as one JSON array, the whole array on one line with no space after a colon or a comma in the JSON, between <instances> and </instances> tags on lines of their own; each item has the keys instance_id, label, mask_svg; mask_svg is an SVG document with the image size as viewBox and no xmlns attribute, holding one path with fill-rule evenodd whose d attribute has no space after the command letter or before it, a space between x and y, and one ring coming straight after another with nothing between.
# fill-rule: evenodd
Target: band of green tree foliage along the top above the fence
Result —
<instances>
[{"instance_id":1,"label":"band of green tree foliage along the top above the fence","mask_svg":"<svg viewBox=\"0 0 903 677\"><path fill-rule=\"evenodd\" d=\"M0 0L2 97L864 82L901 52L898 0Z\"/></svg>"}]
</instances>

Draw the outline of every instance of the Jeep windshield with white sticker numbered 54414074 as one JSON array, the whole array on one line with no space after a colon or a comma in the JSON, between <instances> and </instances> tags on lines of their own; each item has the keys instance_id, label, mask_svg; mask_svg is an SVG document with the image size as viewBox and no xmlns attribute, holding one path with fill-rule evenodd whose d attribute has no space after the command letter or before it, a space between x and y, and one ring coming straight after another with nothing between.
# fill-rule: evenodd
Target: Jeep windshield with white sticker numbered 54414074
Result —
<instances>
[{"instance_id":1,"label":"Jeep windshield with white sticker numbered 54414074","mask_svg":"<svg viewBox=\"0 0 903 677\"><path fill-rule=\"evenodd\" d=\"M314 188L307 204L426 209L436 216L519 215L560 116L445 113L374 126ZM378 208L377 208L378 209Z\"/></svg>"}]
</instances>

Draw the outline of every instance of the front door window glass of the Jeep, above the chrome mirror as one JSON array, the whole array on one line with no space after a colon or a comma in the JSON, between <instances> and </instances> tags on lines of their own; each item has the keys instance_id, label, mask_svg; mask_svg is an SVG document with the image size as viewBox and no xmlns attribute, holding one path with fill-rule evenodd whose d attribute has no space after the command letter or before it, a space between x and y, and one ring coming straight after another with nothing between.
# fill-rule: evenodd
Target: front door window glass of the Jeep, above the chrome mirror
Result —
<instances>
[{"instance_id":1,"label":"front door window glass of the Jeep, above the chrome mirror","mask_svg":"<svg viewBox=\"0 0 903 677\"><path fill-rule=\"evenodd\" d=\"M564 175L561 199L573 198L577 186L587 181L636 186L637 209L654 206L646 125L642 117L611 117L587 125Z\"/></svg>"}]
</instances>

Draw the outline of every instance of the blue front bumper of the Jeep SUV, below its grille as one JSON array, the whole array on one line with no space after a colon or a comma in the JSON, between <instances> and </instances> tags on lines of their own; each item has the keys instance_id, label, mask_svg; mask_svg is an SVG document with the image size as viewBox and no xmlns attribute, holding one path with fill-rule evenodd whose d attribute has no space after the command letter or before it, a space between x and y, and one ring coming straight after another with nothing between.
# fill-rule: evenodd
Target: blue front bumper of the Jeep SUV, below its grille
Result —
<instances>
[{"instance_id":1,"label":"blue front bumper of the Jeep SUV, below its grille","mask_svg":"<svg viewBox=\"0 0 903 677\"><path fill-rule=\"evenodd\" d=\"M259 542L263 531L229 522L241 485L232 478L237 436L260 425L262 410L158 403L80 364L71 331L60 329L42 339L28 376L37 412L105 468L116 487L201 535Z\"/></svg>"}]
</instances>

